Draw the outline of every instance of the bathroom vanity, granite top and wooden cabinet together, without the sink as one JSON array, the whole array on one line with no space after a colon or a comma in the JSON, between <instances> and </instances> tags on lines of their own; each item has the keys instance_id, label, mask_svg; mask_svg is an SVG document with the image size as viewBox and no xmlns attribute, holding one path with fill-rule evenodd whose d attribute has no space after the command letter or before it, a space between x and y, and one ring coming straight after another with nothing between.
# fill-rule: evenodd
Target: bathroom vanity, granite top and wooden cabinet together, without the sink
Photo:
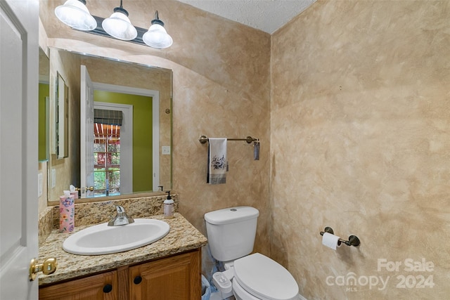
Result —
<instances>
[{"instance_id":1,"label":"bathroom vanity, granite top and wooden cabinet together, without the sink","mask_svg":"<svg viewBox=\"0 0 450 300\"><path fill-rule=\"evenodd\" d=\"M195 299L201 297L201 247L207 239L179 213L157 242L115 254L69 254L67 234L53 230L39 247L39 260L58 259L51 275L39 275L39 299ZM81 226L82 230L87 226Z\"/></svg>"}]
</instances>

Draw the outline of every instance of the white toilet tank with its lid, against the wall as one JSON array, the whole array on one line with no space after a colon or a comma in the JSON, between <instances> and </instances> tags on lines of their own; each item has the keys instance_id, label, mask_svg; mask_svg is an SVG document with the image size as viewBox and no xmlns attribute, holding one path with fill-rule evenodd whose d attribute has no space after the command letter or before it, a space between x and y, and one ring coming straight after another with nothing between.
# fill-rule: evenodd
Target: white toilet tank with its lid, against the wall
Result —
<instances>
[{"instance_id":1,"label":"white toilet tank with its lid, against the wall","mask_svg":"<svg viewBox=\"0 0 450 300\"><path fill-rule=\"evenodd\" d=\"M205 214L214 259L232 261L252 253L258 216L254 207L230 207Z\"/></svg>"}]
</instances>

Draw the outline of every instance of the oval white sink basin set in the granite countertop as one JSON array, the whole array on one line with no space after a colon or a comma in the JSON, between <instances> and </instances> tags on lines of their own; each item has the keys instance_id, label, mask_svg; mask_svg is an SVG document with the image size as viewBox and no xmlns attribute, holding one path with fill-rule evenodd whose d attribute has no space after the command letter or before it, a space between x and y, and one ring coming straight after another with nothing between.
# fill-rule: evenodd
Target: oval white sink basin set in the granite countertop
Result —
<instances>
[{"instance_id":1,"label":"oval white sink basin set in the granite countertop","mask_svg":"<svg viewBox=\"0 0 450 300\"><path fill-rule=\"evenodd\" d=\"M99 255L124 252L151 244L169 233L169 224L155 219L134 219L134 223L91 226L70 235L63 242L65 252Z\"/></svg>"}]
</instances>

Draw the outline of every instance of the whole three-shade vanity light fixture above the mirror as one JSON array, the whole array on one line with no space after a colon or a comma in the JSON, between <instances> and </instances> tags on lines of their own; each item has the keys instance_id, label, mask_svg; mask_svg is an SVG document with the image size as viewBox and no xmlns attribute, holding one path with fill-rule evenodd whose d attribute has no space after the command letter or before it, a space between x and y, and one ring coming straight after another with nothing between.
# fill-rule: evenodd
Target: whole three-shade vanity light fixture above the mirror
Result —
<instances>
[{"instance_id":1,"label":"whole three-shade vanity light fixture above the mirror","mask_svg":"<svg viewBox=\"0 0 450 300\"><path fill-rule=\"evenodd\" d=\"M86 8L86 0L68 0L65 4L55 8L55 14L65 25L74 30L81 30L102 37L113 37L122 41L164 49L172 46L173 40L164 28L164 22L158 18L152 20L149 30L134 27L128 18L128 12L122 6L114 8L110 18L91 15Z\"/></svg>"}]
</instances>

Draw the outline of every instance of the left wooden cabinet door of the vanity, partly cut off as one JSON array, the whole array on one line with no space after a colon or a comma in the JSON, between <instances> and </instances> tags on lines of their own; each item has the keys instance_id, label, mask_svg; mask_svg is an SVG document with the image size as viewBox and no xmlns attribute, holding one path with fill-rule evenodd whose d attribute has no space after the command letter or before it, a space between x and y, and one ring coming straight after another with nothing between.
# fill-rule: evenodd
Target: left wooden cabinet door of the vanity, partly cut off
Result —
<instances>
[{"instance_id":1,"label":"left wooden cabinet door of the vanity, partly cut off","mask_svg":"<svg viewBox=\"0 0 450 300\"><path fill-rule=\"evenodd\" d=\"M39 300L118 300L117 272L41 287Z\"/></svg>"}]
</instances>

